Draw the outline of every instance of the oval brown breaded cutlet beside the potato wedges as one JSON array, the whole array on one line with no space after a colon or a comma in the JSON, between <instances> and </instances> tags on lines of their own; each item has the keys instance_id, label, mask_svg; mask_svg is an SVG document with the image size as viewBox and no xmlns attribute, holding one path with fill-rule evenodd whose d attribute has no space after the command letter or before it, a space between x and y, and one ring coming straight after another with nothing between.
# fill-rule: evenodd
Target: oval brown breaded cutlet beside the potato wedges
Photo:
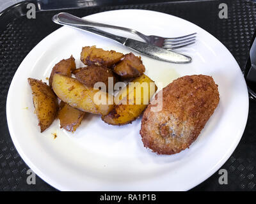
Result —
<instances>
[{"instance_id":1,"label":"oval brown breaded cutlet beside the potato wedges","mask_svg":"<svg viewBox=\"0 0 256 204\"><path fill-rule=\"evenodd\" d=\"M157 154L176 154L196 140L218 106L218 85L212 77L177 78L163 91L163 109L152 112L157 96L143 113L140 135Z\"/></svg>"}]
</instances>

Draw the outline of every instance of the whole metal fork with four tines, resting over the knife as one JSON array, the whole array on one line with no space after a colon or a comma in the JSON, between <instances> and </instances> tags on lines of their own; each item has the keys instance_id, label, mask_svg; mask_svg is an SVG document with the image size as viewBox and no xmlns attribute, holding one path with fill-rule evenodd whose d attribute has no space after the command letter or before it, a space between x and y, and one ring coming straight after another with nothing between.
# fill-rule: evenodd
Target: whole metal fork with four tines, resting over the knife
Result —
<instances>
[{"instance_id":1,"label":"whole metal fork with four tines, resting over the knife","mask_svg":"<svg viewBox=\"0 0 256 204\"><path fill-rule=\"evenodd\" d=\"M140 33L139 31L136 31L134 29L127 28L127 27L101 24L98 22L93 22L91 20L85 20L65 12L58 13L57 15L55 15L55 17L56 18L60 17L62 22L65 22L65 24L69 24L69 25L72 24L72 25L86 26L86 27L107 27L111 29L119 29L122 31L127 31L129 33L138 35L140 38L142 38L143 40L145 40L147 43L151 45L162 47L167 50L174 50L177 48L182 48L188 45L192 45L193 43L195 43L195 40L196 40L196 33L188 34L186 36L179 36L176 38L163 38L161 36L153 36L153 35L147 36L145 34Z\"/></svg>"}]
</instances>

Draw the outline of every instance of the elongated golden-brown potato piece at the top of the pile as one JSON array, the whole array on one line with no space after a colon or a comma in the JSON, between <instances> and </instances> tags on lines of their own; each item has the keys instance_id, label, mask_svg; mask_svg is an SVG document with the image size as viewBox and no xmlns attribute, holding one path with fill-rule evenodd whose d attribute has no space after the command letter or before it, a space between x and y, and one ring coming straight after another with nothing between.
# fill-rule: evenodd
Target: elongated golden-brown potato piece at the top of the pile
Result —
<instances>
[{"instance_id":1,"label":"elongated golden-brown potato piece at the top of the pile","mask_svg":"<svg viewBox=\"0 0 256 204\"><path fill-rule=\"evenodd\" d=\"M124 54L120 52L114 50L106 51L95 46L83 47L81 52L81 61L86 65L113 66L122 57L124 57Z\"/></svg>"}]
</instances>

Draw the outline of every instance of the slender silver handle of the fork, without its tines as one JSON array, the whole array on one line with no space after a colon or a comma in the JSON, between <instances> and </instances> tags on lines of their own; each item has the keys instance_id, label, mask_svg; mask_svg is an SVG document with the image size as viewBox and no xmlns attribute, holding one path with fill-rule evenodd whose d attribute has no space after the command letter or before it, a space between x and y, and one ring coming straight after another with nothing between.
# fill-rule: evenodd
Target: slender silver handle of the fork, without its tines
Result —
<instances>
[{"instance_id":1,"label":"slender silver handle of the fork, without its tines","mask_svg":"<svg viewBox=\"0 0 256 204\"><path fill-rule=\"evenodd\" d=\"M128 27L120 27L120 26L116 26L116 25L108 25L108 24L93 22L91 20L85 20L85 19L76 17L74 15L71 15L70 13L65 13L65 12L58 13L56 15L56 18L58 18L58 20L60 20L61 22L65 23L65 24L73 24L73 25L77 25L77 26L86 26L86 27L107 27L107 28L111 28L111 29L127 31L129 33L136 34L143 40L147 41L147 37L144 34L138 32L134 29L128 28Z\"/></svg>"}]
</instances>

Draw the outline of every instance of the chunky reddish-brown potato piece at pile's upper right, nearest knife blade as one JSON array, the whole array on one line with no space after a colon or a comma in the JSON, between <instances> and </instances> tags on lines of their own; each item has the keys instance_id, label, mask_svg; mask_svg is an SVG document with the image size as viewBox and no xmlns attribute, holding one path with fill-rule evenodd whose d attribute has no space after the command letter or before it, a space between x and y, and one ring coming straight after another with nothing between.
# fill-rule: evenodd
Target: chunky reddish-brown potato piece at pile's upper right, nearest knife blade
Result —
<instances>
[{"instance_id":1,"label":"chunky reddish-brown potato piece at pile's upper right, nearest knife blade","mask_svg":"<svg viewBox=\"0 0 256 204\"><path fill-rule=\"evenodd\" d=\"M114 72L122 78L140 77L145 72L145 66L142 64L141 57L129 53L116 64Z\"/></svg>"}]
</instances>

